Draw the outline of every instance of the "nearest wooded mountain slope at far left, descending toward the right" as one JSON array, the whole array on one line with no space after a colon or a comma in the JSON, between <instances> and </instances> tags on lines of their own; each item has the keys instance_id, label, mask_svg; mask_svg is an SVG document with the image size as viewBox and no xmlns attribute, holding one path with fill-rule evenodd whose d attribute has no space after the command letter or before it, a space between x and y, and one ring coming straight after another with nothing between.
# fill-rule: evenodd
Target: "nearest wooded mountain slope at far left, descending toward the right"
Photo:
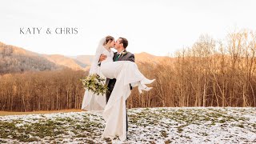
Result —
<instances>
[{"instance_id":1,"label":"nearest wooded mountain slope at far left, descending toward the right","mask_svg":"<svg viewBox=\"0 0 256 144\"><path fill-rule=\"evenodd\" d=\"M0 42L0 74L62 68L62 66L41 57L40 54Z\"/></svg>"}]
</instances>

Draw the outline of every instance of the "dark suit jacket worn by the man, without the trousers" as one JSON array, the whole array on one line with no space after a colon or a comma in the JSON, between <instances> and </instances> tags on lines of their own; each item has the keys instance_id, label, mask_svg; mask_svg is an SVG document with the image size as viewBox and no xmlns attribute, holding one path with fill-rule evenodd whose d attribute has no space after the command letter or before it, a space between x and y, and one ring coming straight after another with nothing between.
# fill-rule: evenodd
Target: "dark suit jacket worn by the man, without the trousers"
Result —
<instances>
[{"instance_id":1,"label":"dark suit jacket worn by the man, without the trousers","mask_svg":"<svg viewBox=\"0 0 256 144\"><path fill-rule=\"evenodd\" d=\"M113 57L113 61L115 60L115 58L117 58L117 54L118 52L114 53L114 57ZM117 61L130 61L130 62L135 62L134 60L134 54L124 50L122 52L122 54L119 56ZM114 84L116 82L116 79L110 79L110 78L106 78L106 86L108 86L109 89L113 89L114 88Z\"/></svg>"}]
</instances>

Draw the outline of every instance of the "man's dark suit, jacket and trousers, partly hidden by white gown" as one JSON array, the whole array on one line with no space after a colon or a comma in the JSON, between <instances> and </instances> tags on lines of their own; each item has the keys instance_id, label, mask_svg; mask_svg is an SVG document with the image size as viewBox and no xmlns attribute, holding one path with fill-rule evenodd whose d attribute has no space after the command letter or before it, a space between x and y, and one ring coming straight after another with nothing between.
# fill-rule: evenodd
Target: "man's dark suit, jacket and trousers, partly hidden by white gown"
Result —
<instances>
[{"instance_id":1,"label":"man's dark suit, jacket and trousers, partly hidden by white gown","mask_svg":"<svg viewBox=\"0 0 256 144\"><path fill-rule=\"evenodd\" d=\"M117 52L114 53L114 57L113 57L113 61L130 61L130 62L134 62L134 54L131 54L130 52L127 52L126 50L124 50L122 52L122 54L118 55ZM110 99L110 95L112 93L112 90L114 89L114 84L116 82L116 79L109 79L106 78L106 85L108 87L108 92L106 93L106 103L109 101ZM132 87L130 86L130 90L132 89ZM127 117L127 111L126 111L126 131L128 131L128 117Z\"/></svg>"}]
</instances>

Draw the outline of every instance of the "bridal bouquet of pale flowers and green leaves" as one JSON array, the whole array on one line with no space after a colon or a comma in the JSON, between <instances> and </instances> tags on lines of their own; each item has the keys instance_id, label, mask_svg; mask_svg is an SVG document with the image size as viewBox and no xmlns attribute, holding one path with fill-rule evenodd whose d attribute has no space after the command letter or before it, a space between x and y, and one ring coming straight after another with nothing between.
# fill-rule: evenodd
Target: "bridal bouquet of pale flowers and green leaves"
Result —
<instances>
[{"instance_id":1,"label":"bridal bouquet of pale flowers and green leaves","mask_svg":"<svg viewBox=\"0 0 256 144\"><path fill-rule=\"evenodd\" d=\"M86 90L92 91L94 94L106 94L107 86L104 84L105 79L98 74L90 74L86 78L81 79L82 85Z\"/></svg>"}]
</instances>

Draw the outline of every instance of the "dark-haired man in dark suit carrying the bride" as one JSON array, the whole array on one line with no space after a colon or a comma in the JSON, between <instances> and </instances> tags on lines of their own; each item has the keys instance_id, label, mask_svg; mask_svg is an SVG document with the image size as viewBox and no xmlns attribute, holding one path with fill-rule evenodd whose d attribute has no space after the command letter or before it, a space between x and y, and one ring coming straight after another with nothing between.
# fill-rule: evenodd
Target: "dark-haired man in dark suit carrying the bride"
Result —
<instances>
[{"instance_id":1,"label":"dark-haired man in dark suit carrying the bride","mask_svg":"<svg viewBox=\"0 0 256 144\"><path fill-rule=\"evenodd\" d=\"M126 47L128 46L128 41L126 38L118 38L115 42L114 49L118 50L114 53L113 61L130 61L134 62L134 54L131 54L130 52L126 51ZM102 62L106 59L106 55L101 55L99 58L99 62ZM108 87L108 92L106 93L106 103L110 99L110 95L112 93L112 90L114 89L114 84L116 82L116 79L110 79L106 78L106 85ZM132 87L130 86L130 90ZM128 131L128 116L127 116L127 110L126 110L126 131Z\"/></svg>"}]
</instances>

